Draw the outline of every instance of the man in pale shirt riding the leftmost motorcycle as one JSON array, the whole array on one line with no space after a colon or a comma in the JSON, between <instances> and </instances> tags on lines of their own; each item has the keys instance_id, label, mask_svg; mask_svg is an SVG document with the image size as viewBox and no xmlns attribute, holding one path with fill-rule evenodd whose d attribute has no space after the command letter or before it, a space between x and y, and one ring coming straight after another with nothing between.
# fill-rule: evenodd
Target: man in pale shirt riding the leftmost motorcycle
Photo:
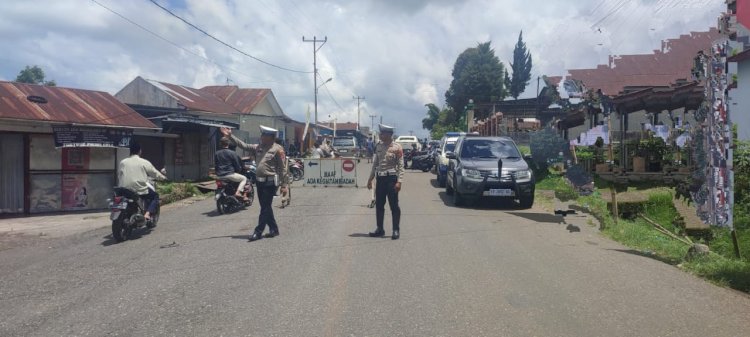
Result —
<instances>
[{"instance_id":1,"label":"man in pale shirt riding the leftmost motorcycle","mask_svg":"<svg viewBox=\"0 0 750 337\"><path fill-rule=\"evenodd\" d=\"M146 207L143 217L151 220L151 213L156 212L159 205L159 194L150 187L149 178L156 180L167 179L166 169L159 172L154 165L146 159L141 158L141 145L133 142L130 144L130 157L120 161L117 170L117 181L119 187L131 190L151 202Z\"/></svg>"}]
</instances>

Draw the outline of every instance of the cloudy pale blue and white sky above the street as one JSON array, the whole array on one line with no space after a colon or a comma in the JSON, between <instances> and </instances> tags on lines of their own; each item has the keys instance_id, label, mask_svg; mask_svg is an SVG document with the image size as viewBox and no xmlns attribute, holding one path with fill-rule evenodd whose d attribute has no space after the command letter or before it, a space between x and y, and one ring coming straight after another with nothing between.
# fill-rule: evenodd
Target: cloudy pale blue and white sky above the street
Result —
<instances>
[{"instance_id":1,"label":"cloudy pale blue and white sky above the street","mask_svg":"<svg viewBox=\"0 0 750 337\"><path fill-rule=\"evenodd\" d=\"M229 83L273 89L284 112L304 121L309 73L280 70L217 43L148 0L0 1L0 79L39 65L59 86L115 94L136 76L192 87ZM609 54L648 53L660 41L716 25L723 0L159 0L217 38L269 63L323 79L319 119L369 115L407 134L421 130L424 104L443 105L456 57L492 41L508 64L524 31L533 77L605 63ZM183 49L178 48L180 46ZM187 50L187 51L186 51ZM189 51L189 52L188 52ZM532 81L524 97L536 93ZM376 119L377 123L377 119Z\"/></svg>"}]
</instances>

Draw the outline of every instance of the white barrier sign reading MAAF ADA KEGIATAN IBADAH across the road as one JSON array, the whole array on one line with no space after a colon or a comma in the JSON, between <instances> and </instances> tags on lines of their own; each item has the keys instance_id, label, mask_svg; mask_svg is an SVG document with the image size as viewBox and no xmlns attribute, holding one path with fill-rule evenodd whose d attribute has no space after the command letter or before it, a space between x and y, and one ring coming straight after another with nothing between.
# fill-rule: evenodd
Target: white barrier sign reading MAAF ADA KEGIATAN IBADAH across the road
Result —
<instances>
[{"instance_id":1,"label":"white barrier sign reading MAAF ADA KEGIATAN IBADAH across the road","mask_svg":"<svg viewBox=\"0 0 750 337\"><path fill-rule=\"evenodd\" d=\"M359 187L354 158L305 159L303 186Z\"/></svg>"}]
</instances>

